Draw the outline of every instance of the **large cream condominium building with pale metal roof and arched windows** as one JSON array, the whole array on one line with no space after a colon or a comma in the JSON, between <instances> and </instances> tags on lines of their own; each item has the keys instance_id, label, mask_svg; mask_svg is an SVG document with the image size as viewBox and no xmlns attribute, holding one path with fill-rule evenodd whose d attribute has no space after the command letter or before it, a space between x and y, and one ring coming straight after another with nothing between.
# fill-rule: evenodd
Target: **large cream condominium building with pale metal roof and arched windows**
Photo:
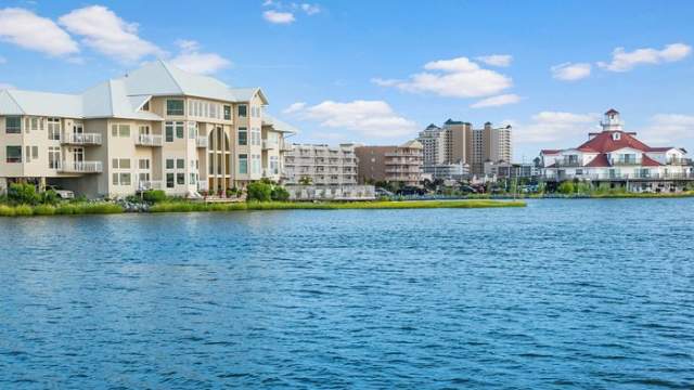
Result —
<instances>
[{"instance_id":1,"label":"large cream condominium building with pale metal roof and arched windows","mask_svg":"<svg viewBox=\"0 0 694 390\"><path fill-rule=\"evenodd\" d=\"M279 180L291 127L259 88L230 88L162 61L81 94L0 92L0 191L15 181L119 197Z\"/></svg>"}]
</instances>

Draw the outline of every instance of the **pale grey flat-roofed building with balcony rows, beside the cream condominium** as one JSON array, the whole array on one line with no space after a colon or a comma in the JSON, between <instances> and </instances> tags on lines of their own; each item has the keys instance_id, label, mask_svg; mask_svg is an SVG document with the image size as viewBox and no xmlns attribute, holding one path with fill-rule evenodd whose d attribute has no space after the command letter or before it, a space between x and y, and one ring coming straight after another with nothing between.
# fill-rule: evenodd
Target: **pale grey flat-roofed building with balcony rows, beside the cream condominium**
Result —
<instances>
[{"instance_id":1,"label":"pale grey flat-roofed building with balcony rows, beside the cream condominium","mask_svg":"<svg viewBox=\"0 0 694 390\"><path fill-rule=\"evenodd\" d=\"M284 168L287 184L357 184L357 156L354 144L294 144L284 155Z\"/></svg>"}]
</instances>

